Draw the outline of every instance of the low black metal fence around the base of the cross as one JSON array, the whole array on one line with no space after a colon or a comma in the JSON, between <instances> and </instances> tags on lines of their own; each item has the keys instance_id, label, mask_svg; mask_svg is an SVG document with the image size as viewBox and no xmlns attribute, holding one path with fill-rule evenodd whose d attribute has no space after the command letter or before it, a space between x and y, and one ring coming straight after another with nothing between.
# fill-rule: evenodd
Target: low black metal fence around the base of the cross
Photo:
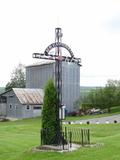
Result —
<instances>
[{"instance_id":1,"label":"low black metal fence around the base of the cross","mask_svg":"<svg viewBox=\"0 0 120 160\"><path fill-rule=\"evenodd\" d=\"M45 138L43 137L47 137L47 134L49 134L49 132L51 132L51 130L40 130L41 146L51 145L64 150L71 148L73 143L82 146L90 144L89 129L71 129L65 127L62 132L57 133L56 135L45 141Z\"/></svg>"}]
</instances>

